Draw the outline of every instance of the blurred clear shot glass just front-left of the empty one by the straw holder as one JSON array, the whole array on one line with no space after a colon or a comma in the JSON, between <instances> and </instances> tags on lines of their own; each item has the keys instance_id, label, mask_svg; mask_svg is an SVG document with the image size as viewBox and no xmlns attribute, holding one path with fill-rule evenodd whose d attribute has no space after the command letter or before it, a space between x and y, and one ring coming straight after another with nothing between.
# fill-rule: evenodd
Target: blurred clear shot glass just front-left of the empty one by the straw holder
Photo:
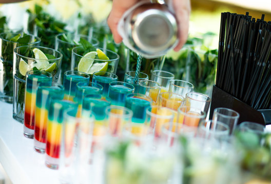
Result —
<instances>
[{"instance_id":1,"label":"blurred clear shot glass just front-left of the empty one by the straw holder","mask_svg":"<svg viewBox=\"0 0 271 184\"><path fill-rule=\"evenodd\" d=\"M229 126L212 120L203 121L198 127L197 136L206 140L226 141L229 136Z\"/></svg>"}]
</instances>

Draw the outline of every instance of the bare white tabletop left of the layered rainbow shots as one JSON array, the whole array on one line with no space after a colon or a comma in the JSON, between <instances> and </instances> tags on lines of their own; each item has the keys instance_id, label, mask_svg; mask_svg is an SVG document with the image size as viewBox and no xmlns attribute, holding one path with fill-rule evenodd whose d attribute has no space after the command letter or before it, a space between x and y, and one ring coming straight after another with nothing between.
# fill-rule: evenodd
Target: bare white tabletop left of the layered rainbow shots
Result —
<instances>
[{"instance_id":1,"label":"bare white tabletop left of the layered rainbow shots","mask_svg":"<svg viewBox=\"0 0 271 184\"><path fill-rule=\"evenodd\" d=\"M12 118L12 104L0 102L0 163L13 184L60 183L58 171L45 166L45 154L23 135L23 124Z\"/></svg>"}]
</instances>

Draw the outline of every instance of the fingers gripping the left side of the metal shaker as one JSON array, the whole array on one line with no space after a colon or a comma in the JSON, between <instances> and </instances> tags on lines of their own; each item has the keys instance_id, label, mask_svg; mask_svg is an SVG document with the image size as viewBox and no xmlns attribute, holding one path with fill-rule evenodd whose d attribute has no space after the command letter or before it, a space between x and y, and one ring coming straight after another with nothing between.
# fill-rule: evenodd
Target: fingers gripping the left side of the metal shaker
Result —
<instances>
[{"instance_id":1,"label":"fingers gripping the left side of the metal shaker","mask_svg":"<svg viewBox=\"0 0 271 184\"><path fill-rule=\"evenodd\" d=\"M114 41L120 43L122 37L118 33L118 23L123 13L136 4L139 0L113 0L112 9L107 18L107 24L113 34Z\"/></svg>"}]
</instances>

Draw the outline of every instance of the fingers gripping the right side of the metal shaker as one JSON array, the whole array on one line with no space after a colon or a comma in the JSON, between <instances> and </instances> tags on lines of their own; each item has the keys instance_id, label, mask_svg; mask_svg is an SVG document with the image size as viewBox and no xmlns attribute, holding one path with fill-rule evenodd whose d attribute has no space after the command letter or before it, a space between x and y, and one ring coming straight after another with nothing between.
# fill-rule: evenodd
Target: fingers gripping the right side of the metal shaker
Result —
<instances>
[{"instance_id":1,"label":"fingers gripping the right side of the metal shaker","mask_svg":"<svg viewBox=\"0 0 271 184\"><path fill-rule=\"evenodd\" d=\"M189 31L190 0L172 0L178 22L179 42L174 51L179 51L185 44Z\"/></svg>"}]
</instances>

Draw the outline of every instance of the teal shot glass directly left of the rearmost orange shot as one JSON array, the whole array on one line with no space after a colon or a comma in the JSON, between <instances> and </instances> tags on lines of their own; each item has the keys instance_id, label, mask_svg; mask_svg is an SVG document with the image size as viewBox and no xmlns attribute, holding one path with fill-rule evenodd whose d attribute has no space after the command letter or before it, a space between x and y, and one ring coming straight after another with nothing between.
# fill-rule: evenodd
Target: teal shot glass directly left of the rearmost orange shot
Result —
<instances>
[{"instance_id":1,"label":"teal shot glass directly left of the rearmost orange shot","mask_svg":"<svg viewBox=\"0 0 271 184\"><path fill-rule=\"evenodd\" d=\"M108 97L111 99L112 105L125 105L125 98L127 94L134 92L134 86L127 82L113 81L109 84Z\"/></svg>"}]
</instances>

